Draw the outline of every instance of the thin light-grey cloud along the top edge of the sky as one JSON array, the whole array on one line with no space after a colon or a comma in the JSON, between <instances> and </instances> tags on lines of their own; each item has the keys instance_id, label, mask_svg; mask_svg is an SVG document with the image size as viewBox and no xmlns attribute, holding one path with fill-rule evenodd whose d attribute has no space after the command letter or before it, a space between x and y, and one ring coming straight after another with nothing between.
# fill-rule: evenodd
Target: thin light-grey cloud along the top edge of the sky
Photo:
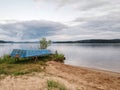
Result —
<instances>
[{"instance_id":1,"label":"thin light-grey cloud along the top edge of the sky","mask_svg":"<svg viewBox=\"0 0 120 90\"><path fill-rule=\"evenodd\" d=\"M94 8L111 6L111 5L119 5L119 0L34 0L35 2L44 2L44 3L53 3L57 5L59 8L61 7L72 7L77 10L90 10Z\"/></svg>"}]
</instances>

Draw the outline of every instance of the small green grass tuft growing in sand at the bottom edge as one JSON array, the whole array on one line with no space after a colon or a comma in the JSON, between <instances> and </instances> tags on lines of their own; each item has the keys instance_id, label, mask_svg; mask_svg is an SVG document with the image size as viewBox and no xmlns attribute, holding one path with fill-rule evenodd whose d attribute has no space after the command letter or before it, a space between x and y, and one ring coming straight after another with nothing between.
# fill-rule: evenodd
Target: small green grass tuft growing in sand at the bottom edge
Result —
<instances>
[{"instance_id":1,"label":"small green grass tuft growing in sand at the bottom edge","mask_svg":"<svg viewBox=\"0 0 120 90\"><path fill-rule=\"evenodd\" d=\"M48 90L67 90L64 84L57 81L47 80Z\"/></svg>"}]
</instances>

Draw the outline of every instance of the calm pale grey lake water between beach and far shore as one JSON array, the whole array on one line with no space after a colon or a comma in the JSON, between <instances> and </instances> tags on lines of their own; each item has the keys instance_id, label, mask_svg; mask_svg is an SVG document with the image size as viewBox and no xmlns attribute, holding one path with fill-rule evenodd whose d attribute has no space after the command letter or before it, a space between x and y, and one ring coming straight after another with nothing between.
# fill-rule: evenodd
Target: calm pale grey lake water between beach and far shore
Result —
<instances>
[{"instance_id":1,"label":"calm pale grey lake water between beach and far shore","mask_svg":"<svg viewBox=\"0 0 120 90\"><path fill-rule=\"evenodd\" d=\"M0 56L14 48L38 48L39 44L0 44ZM119 44L52 44L49 49L65 54L66 64L120 72Z\"/></svg>"}]
</instances>

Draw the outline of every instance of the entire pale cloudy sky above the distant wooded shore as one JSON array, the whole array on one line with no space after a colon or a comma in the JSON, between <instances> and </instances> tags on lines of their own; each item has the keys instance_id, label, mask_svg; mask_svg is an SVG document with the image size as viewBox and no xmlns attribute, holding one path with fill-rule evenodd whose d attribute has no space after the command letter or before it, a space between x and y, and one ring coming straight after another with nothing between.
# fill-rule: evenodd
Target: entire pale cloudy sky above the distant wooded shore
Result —
<instances>
[{"instance_id":1,"label":"entire pale cloudy sky above the distant wooded shore","mask_svg":"<svg viewBox=\"0 0 120 90\"><path fill-rule=\"evenodd\" d=\"M0 40L120 39L120 0L0 0Z\"/></svg>"}]
</instances>

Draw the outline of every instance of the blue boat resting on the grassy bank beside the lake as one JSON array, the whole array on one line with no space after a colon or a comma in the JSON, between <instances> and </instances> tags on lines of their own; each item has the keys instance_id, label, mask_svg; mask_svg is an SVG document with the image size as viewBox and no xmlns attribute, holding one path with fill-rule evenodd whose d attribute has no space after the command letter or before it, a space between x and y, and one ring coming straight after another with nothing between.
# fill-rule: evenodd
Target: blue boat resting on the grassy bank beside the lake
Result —
<instances>
[{"instance_id":1,"label":"blue boat resting on the grassy bank beside the lake","mask_svg":"<svg viewBox=\"0 0 120 90\"><path fill-rule=\"evenodd\" d=\"M13 49L10 56L17 58L27 58L27 57L49 55L49 54L52 54L52 52L47 49Z\"/></svg>"}]
</instances>

